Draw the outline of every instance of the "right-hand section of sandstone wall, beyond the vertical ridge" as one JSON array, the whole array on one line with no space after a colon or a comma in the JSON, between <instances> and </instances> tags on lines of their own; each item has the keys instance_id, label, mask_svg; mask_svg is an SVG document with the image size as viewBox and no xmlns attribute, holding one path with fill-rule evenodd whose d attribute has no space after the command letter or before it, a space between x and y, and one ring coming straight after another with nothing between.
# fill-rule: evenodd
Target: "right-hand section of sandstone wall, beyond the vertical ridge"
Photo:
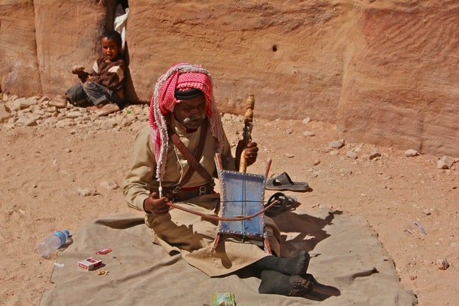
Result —
<instances>
[{"instance_id":1,"label":"right-hand section of sandstone wall, beyond the vertical ridge","mask_svg":"<svg viewBox=\"0 0 459 306\"><path fill-rule=\"evenodd\" d=\"M337 124L348 141L459 153L459 2L365 9Z\"/></svg>"}]
</instances>

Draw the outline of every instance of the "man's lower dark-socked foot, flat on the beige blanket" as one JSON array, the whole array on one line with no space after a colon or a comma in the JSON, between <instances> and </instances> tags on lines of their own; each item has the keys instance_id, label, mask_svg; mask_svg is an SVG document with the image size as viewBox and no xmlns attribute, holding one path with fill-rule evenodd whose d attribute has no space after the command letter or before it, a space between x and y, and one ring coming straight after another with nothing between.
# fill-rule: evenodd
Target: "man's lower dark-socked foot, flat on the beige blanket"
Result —
<instances>
[{"instance_id":1,"label":"man's lower dark-socked foot, flat on the beige blanket","mask_svg":"<svg viewBox=\"0 0 459 306\"><path fill-rule=\"evenodd\" d=\"M310 274L287 276L277 271L261 271L259 293L302 297L314 288L315 280Z\"/></svg>"}]
</instances>

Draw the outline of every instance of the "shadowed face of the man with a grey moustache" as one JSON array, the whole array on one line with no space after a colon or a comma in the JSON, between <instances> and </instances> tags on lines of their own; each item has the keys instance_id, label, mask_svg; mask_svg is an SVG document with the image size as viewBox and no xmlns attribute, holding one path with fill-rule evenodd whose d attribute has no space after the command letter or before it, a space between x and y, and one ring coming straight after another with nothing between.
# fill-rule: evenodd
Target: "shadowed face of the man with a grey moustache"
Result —
<instances>
[{"instance_id":1,"label":"shadowed face of the man with a grey moustache","mask_svg":"<svg viewBox=\"0 0 459 306\"><path fill-rule=\"evenodd\" d=\"M185 128L194 130L203 124L207 109L205 96L202 94L191 100L179 100L174 106L174 117Z\"/></svg>"}]
</instances>

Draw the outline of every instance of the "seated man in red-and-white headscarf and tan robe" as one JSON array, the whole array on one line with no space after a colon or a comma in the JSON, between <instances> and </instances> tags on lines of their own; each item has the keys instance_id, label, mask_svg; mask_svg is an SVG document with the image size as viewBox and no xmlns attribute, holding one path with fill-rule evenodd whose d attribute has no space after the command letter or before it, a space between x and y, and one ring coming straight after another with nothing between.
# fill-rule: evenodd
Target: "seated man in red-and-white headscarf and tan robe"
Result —
<instances>
[{"instance_id":1,"label":"seated man in red-and-white headscarf and tan robe","mask_svg":"<svg viewBox=\"0 0 459 306\"><path fill-rule=\"evenodd\" d=\"M256 161L258 149L255 142L246 146L241 158L248 166ZM261 278L259 293L305 295L314 285L314 278L306 273L310 256L302 251L294 258L278 257L280 232L270 218L265 217L266 232L273 255L235 237L220 238L212 251L216 222L166 204L174 201L201 215L217 216L216 152L224 169L237 169L215 106L210 74L198 65L176 64L158 79L149 127L136 137L134 160L123 188L128 205L146 212L145 223L157 244L169 254L180 252L208 276L250 266Z\"/></svg>"}]
</instances>

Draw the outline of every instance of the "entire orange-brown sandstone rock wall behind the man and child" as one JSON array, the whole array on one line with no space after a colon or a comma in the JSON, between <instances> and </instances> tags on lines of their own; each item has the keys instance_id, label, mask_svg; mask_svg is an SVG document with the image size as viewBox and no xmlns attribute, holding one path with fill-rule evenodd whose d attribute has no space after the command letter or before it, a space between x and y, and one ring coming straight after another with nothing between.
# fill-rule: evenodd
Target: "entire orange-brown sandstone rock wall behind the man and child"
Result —
<instances>
[{"instance_id":1,"label":"entire orange-brown sandstone rock wall behind the man and child","mask_svg":"<svg viewBox=\"0 0 459 306\"><path fill-rule=\"evenodd\" d=\"M115 0L4 0L0 86L60 94L90 67ZM148 102L174 62L203 64L220 110L336 123L339 137L459 155L455 0L130 1L134 91Z\"/></svg>"}]
</instances>

